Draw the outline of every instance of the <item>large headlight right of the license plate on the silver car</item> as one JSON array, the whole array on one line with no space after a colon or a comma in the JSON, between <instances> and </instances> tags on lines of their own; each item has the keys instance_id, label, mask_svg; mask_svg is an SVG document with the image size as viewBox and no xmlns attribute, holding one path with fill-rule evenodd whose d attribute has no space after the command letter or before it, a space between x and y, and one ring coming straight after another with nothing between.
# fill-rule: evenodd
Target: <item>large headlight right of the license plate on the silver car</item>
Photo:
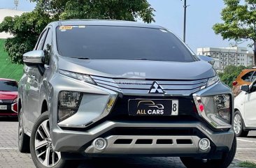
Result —
<instances>
[{"instance_id":1,"label":"large headlight right of the license plate on the silver car","mask_svg":"<svg viewBox=\"0 0 256 168\"><path fill-rule=\"evenodd\" d=\"M231 128L232 105L229 94L194 97L199 115L214 128Z\"/></svg>"}]
</instances>

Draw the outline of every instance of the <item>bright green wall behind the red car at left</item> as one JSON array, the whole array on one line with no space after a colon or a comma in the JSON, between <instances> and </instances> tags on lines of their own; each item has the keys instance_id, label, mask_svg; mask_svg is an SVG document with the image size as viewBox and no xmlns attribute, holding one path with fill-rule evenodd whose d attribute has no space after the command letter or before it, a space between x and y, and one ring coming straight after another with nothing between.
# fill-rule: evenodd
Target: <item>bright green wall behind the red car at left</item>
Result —
<instances>
[{"instance_id":1,"label":"bright green wall behind the red car at left","mask_svg":"<svg viewBox=\"0 0 256 168\"><path fill-rule=\"evenodd\" d=\"M20 81L23 75L23 65L11 63L8 54L4 51L5 39L0 39L0 78L9 78Z\"/></svg>"}]
</instances>

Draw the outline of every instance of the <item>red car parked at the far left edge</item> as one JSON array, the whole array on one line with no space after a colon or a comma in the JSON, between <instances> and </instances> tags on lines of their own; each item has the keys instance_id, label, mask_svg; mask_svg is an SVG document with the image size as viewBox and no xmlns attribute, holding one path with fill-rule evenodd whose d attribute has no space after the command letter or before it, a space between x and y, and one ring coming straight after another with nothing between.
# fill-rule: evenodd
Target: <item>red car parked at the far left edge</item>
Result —
<instances>
[{"instance_id":1,"label":"red car parked at the far left edge","mask_svg":"<svg viewBox=\"0 0 256 168\"><path fill-rule=\"evenodd\" d=\"M17 116L17 82L0 78L0 116Z\"/></svg>"}]
</instances>

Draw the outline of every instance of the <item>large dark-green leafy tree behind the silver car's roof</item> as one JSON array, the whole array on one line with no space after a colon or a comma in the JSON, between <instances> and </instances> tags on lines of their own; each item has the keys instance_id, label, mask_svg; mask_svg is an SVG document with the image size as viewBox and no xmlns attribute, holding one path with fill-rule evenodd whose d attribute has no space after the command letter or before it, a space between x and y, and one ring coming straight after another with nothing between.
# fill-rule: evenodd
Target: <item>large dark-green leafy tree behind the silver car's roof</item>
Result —
<instances>
[{"instance_id":1,"label":"large dark-green leafy tree behind the silver car's roof","mask_svg":"<svg viewBox=\"0 0 256 168\"><path fill-rule=\"evenodd\" d=\"M21 16L5 17L0 32L9 32L5 50L10 61L23 63L22 54L34 48L44 27L52 21L69 19L143 20L155 22L147 0L31 0L36 8Z\"/></svg>"}]
</instances>

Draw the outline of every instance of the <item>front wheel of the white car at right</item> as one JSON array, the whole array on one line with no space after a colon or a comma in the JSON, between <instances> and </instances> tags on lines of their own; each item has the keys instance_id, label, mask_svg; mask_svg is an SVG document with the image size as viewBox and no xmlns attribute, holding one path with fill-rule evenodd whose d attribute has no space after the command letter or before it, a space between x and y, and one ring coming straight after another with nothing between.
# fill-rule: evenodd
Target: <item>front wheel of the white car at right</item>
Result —
<instances>
[{"instance_id":1,"label":"front wheel of the white car at right","mask_svg":"<svg viewBox=\"0 0 256 168\"><path fill-rule=\"evenodd\" d=\"M234 113L234 132L236 137L247 137L249 132L244 128L243 117L239 111Z\"/></svg>"}]
</instances>

